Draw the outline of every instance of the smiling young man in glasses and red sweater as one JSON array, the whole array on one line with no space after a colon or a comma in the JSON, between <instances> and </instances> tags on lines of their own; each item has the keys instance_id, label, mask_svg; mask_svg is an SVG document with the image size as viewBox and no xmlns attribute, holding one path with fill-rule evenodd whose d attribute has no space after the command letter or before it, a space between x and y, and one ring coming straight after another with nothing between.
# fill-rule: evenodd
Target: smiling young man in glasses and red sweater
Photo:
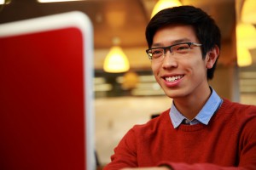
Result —
<instances>
[{"instance_id":1,"label":"smiling young man in glasses and red sweater","mask_svg":"<svg viewBox=\"0 0 256 170\"><path fill-rule=\"evenodd\" d=\"M156 81L171 109L125 134L105 170L255 170L256 106L221 99L209 87L220 31L200 8L160 11L146 29Z\"/></svg>"}]
</instances>

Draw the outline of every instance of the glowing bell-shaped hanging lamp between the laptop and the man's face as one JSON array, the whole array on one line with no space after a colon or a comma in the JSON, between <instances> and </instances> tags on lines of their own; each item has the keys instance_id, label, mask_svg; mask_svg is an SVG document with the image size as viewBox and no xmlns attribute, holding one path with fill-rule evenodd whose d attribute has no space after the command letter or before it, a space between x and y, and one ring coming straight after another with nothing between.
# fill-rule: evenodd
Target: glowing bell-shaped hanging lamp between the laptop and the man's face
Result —
<instances>
[{"instance_id":1,"label":"glowing bell-shaped hanging lamp between the laptop and the man's face","mask_svg":"<svg viewBox=\"0 0 256 170\"><path fill-rule=\"evenodd\" d=\"M125 72L129 71L130 65L122 48L119 46L113 46L110 48L108 55L104 60L103 69L106 72Z\"/></svg>"}]
</instances>

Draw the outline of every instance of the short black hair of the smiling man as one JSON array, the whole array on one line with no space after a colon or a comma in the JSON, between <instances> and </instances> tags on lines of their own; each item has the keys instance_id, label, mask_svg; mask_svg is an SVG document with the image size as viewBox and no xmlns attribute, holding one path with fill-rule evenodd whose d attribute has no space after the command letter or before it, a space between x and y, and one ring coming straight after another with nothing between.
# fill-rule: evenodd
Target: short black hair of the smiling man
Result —
<instances>
[{"instance_id":1,"label":"short black hair of the smiling man","mask_svg":"<svg viewBox=\"0 0 256 170\"><path fill-rule=\"evenodd\" d=\"M154 17L149 21L145 32L148 48L151 48L152 46L153 37L156 31L164 26L174 24L194 27L195 36L202 44L201 52L203 59L206 58L207 52L214 48L215 45L220 49L221 33L215 21L201 8L195 8L187 5L166 8L154 15ZM212 66L212 69L207 70L208 79L212 79L216 65L217 60Z\"/></svg>"}]
</instances>

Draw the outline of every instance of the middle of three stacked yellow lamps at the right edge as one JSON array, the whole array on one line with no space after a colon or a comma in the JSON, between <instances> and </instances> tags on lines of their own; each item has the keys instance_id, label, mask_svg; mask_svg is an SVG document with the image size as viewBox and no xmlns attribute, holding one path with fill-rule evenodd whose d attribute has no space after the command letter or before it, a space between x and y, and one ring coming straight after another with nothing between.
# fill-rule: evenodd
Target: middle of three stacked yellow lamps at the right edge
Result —
<instances>
[{"instance_id":1,"label":"middle of three stacked yellow lamps at the right edge","mask_svg":"<svg viewBox=\"0 0 256 170\"><path fill-rule=\"evenodd\" d=\"M251 24L239 23L236 25L237 47L256 48L256 29Z\"/></svg>"}]
</instances>

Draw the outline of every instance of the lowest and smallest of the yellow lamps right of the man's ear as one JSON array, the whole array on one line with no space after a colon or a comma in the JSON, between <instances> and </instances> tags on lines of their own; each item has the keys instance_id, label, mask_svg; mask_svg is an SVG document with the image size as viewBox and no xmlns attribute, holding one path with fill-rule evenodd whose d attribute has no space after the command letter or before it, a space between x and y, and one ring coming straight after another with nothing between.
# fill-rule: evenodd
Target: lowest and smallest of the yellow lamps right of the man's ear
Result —
<instances>
[{"instance_id":1,"label":"lowest and smallest of the yellow lamps right of the man's ear","mask_svg":"<svg viewBox=\"0 0 256 170\"><path fill-rule=\"evenodd\" d=\"M237 65L238 66L248 66L253 64L252 56L247 48L238 47L237 48Z\"/></svg>"}]
</instances>

